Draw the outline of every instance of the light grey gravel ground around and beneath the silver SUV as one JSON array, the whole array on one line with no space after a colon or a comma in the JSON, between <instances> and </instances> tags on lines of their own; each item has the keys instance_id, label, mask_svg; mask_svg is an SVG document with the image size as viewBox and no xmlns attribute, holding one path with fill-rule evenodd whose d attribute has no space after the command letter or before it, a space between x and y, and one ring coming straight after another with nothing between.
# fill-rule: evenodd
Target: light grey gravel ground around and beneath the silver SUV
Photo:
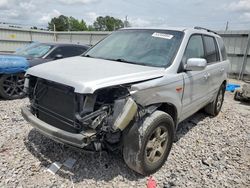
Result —
<instances>
[{"instance_id":1,"label":"light grey gravel ground around and beneath the silver SUV","mask_svg":"<svg viewBox=\"0 0 250 188\"><path fill-rule=\"evenodd\" d=\"M0 187L146 187L148 177L128 169L120 155L79 152L42 136L26 123L28 100L0 100ZM55 161L77 159L56 175ZM201 112L181 123L158 187L250 187L250 106L227 93L222 112Z\"/></svg>"}]
</instances>

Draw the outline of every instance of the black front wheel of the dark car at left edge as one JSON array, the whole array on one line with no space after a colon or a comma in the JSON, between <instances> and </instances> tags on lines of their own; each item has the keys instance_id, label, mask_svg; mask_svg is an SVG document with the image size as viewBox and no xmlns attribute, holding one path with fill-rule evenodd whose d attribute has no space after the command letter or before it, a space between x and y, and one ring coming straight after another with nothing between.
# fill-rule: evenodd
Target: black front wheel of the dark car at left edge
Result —
<instances>
[{"instance_id":1,"label":"black front wheel of the dark car at left edge","mask_svg":"<svg viewBox=\"0 0 250 188\"><path fill-rule=\"evenodd\" d=\"M0 78L0 95L4 99L20 99L25 96L24 74L4 74Z\"/></svg>"}]
</instances>

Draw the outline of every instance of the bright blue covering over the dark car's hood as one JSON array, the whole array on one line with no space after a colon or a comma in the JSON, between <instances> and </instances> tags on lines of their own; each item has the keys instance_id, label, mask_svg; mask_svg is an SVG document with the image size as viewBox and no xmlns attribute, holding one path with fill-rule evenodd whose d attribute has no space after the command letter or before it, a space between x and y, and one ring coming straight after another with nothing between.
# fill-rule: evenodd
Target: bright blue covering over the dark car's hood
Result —
<instances>
[{"instance_id":1,"label":"bright blue covering over the dark car's hood","mask_svg":"<svg viewBox=\"0 0 250 188\"><path fill-rule=\"evenodd\" d=\"M10 54L0 55L0 74L25 72L28 68L29 63L25 57Z\"/></svg>"}]
</instances>

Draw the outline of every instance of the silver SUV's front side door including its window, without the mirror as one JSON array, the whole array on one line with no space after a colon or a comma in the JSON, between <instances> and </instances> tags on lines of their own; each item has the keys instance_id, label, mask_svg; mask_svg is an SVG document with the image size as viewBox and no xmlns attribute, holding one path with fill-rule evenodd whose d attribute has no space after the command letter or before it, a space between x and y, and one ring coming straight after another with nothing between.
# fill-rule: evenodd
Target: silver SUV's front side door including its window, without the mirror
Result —
<instances>
[{"instance_id":1,"label":"silver SUV's front side door including its window, without the mirror","mask_svg":"<svg viewBox=\"0 0 250 188\"><path fill-rule=\"evenodd\" d=\"M200 34L192 35L189 39L182 63L185 64L189 58L204 58L205 49L203 39ZM182 117L185 119L198 111L209 100L207 92L209 89L209 75L207 68L201 71L185 71L184 77L184 94L182 99Z\"/></svg>"}]
</instances>

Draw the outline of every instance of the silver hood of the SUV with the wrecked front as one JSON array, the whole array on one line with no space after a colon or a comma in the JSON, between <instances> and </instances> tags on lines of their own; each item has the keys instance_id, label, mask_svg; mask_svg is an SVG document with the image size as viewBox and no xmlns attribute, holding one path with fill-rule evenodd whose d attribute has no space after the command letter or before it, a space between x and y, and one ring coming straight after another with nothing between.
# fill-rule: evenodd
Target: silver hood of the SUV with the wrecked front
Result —
<instances>
[{"instance_id":1,"label":"silver hood of the SUV with the wrecked front","mask_svg":"<svg viewBox=\"0 0 250 188\"><path fill-rule=\"evenodd\" d=\"M75 88L76 93L162 77L164 68L87 57L65 58L30 68L33 75Z\"/></svg>"}]
</instances>

